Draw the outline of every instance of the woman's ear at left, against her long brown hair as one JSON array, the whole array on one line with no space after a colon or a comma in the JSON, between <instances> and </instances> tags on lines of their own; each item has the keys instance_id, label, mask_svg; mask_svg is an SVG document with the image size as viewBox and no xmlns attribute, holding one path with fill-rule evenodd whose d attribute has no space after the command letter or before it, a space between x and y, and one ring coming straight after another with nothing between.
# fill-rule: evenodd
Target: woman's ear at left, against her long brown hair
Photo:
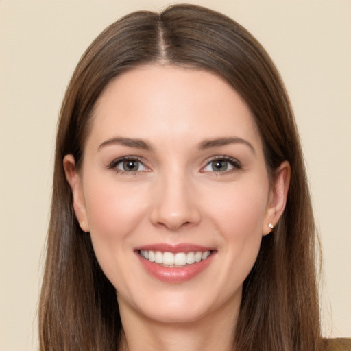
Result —
<instances>
[{"instance_id":1,"label":"woman's ear at left, against her long brown hair","mask_svg":"<svg viewBox=\"0 0 351 351\"><path fill-rule=\"evenodd\" d=\"M84 232L89 231L88 216L86 215L86 206L84 200L84 191L82 185L82 179L80 174L75 169L75 159L73 155L66 155L63 159L64 173L66 174L66 180L71 186L73 194L73 208L75 217L77 217L80 223L80 228Z\"/></svg>"}]
</instances>

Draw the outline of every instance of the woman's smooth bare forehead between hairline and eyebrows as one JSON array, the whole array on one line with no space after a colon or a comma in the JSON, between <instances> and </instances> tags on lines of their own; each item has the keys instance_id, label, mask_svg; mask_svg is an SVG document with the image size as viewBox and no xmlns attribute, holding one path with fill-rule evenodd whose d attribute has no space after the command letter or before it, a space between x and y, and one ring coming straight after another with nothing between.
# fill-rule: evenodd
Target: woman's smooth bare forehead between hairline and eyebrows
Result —
<instances>
[{"instance_id":1,"label":"woman's smooth bare forehead between hairline and eyebrows","mask_svg":"<svg viewBox=\"0 0 351 351\"><path fill-rule=\"evenodd\" d=\"M184 138L237 136L261 145L250 109L221 77L199 69L151 65L108 84L95 104L90 136Z\"/></svg>"}]
</instances>

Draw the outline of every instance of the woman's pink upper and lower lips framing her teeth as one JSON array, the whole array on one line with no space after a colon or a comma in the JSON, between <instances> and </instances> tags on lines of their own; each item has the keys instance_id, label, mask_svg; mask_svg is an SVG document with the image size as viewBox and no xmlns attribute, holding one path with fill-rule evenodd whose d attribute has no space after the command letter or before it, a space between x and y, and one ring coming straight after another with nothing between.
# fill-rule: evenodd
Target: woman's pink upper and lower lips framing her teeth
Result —
<instances>
[{"instance_id":1,"label":"woman's pink upper and lower lips framing her teeth","mask_svg":"<svg viewBox=\"0 0 351 351\"><path fill-rule=\"evenodd\" d=\"M193 263L192 265L186 265L184 267L165 267L159 265L158 263L150 262L145 258L141 257L139 254L140 250L152 250L152 251L160 251L160 252L192 252L192 251L210 251L211 254L204 261L200 261L198 263ZM213 261L213 258L216 254L216 250L213 250L211 247L204 247L200 245L193 244L178 244L178 245L169 245L169 244L154 244L154 245L145 245L142 247L138 247L135 251L136 256L138 257L141 265L147 271L147 273L162 281L169 283L180 283L186 282L195 278L195 276L199 275L204 271L210 263Z\"/></svg>"}]
</instances>

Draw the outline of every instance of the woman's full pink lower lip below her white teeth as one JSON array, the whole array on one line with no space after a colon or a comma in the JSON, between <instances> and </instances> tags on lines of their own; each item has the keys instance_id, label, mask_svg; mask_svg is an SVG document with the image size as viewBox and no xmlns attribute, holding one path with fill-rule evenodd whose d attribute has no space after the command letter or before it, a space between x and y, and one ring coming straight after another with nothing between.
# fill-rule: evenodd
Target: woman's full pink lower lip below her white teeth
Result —
<instances>
[{"instance_id":1,"label":"woman's full pink lower lip below her white teeth","mask_svg":"<svg viewBox=\"0 0 351 351\"><path fill-rule=\"evenodd\" d=\"M136 254L145 271L162 282L186 282L187 280L191 280L204 271L212 262L213 256L215 256L214 252L211 252L206 260L193 263L192 265L186 265L184 267L164 267L158 265L158 263L146 260L141 257L138 252L136 252Z\"/></svg>"}]
</instances>

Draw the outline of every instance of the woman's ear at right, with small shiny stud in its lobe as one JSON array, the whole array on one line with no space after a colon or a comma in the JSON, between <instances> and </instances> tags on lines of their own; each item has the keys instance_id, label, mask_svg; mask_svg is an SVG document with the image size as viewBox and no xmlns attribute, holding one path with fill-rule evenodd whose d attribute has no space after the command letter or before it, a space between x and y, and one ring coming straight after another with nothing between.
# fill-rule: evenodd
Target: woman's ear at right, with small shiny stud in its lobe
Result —
<instances>
[{"instance_id":1,"label":"woman's ear at right, with small shiny stud in its lobe","mask_svg":"<svg viewBox=\"0 0 351 351\"><path fill-rule=\"evenodd\" d=\"M287 204L290 175L291 167L289 162L282 162L276 171L274 184L271 184L271 190L269 191L265 221L263 222L263 235L267 235L271 232L284 212L285 204Z\"/></svg>"}]
</instances>

